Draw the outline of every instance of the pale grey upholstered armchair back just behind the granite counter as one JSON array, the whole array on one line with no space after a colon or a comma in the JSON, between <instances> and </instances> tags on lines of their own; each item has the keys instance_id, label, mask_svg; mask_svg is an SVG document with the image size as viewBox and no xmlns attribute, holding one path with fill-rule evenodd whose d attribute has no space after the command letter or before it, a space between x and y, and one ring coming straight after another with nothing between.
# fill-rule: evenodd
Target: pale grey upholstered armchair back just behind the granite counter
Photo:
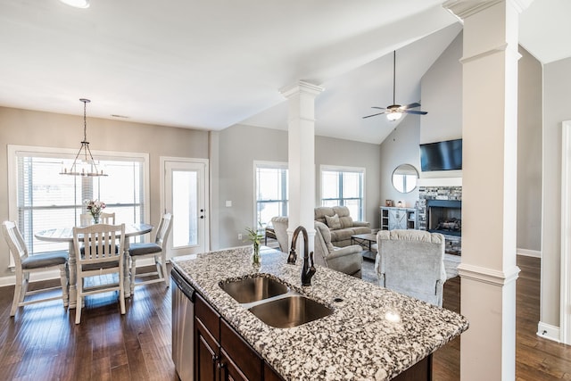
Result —
<instances>
[{"instance_id":1,"label":"pale grey upholstered armchair back just behind the granite counter","mask_svg":"<svg viewBox=\"0 0 571 381\"><path fill-rule=\"evenodd\" d=\"M443 306L444 236L424 230L377 233L378 284L438 307Z\"/></svg>"}]
</instances>

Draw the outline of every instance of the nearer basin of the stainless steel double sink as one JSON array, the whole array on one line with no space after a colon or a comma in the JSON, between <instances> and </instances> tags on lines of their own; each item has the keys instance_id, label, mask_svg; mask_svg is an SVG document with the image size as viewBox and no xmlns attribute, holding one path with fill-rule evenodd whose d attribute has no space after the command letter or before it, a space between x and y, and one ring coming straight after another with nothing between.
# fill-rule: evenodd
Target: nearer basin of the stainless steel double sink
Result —
<instances>
[{"instance_id":1,"label":"nearer basin of the stainless steel double sink","mask_svg":"<svg viewBox=\"0 0 571 381\"><path fill-rule=\"evenodd\" d=\"M333 313L327 305L303 295L291 295L253 306L251 311L271 327L291 328L324 318Z\"/></svg>"}]
</instances>

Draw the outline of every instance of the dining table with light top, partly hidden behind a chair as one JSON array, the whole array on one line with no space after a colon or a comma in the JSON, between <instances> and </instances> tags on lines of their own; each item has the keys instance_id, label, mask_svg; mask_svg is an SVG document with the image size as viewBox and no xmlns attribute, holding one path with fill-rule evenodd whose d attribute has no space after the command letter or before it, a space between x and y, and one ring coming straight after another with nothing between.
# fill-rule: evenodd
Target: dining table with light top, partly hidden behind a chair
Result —
<instances>
[{"instance_id":1,"label":"dining table with light top, partly hidden behind a chair","mask_svg":"<svg viewBox=\"0 0 571 381\"><path fill-rule=\"evenodd\" d=\"M128 247L130 237L132 236L143 236L150 233L153 230L153 225L139 223L139 224L125 224L125 250L123 255L125 255L124 269L123 269L123 294L126 298L131 296L130 292L130 271L128 265ZM77 269L76 269L76 253L73 245L73 228L50 228L46 230L38 231L34 235L40 241L49 242L67 242L69 244L69 271L70 271L70 308L76 308L78 301L78 289L77 289Z\"/></svg>"}]
</instances>

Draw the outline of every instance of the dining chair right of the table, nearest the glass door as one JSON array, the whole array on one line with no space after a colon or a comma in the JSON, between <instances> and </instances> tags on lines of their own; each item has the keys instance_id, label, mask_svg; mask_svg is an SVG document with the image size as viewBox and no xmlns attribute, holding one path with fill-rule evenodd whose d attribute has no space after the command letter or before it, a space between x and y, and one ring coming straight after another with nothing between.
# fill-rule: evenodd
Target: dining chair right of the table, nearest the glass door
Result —
<instances>
[{"instance_id":1,"label":"dining chair right of the table, nearest the glass door","mask_svg":"<svg viewBox=\"0 0 571 381\"><path fill-rule=\"evenodd\" d=\"M153 243L136 243L131 244L128 248L128 255L131 260L131 294L135 291L135 286L148 285L151 283L164 282L168 287L170 285L169 273L167 270L167 250L166 244L169 239L170 228L172 227L172 214L165 213ZM137 274L137 260L142 258L153 258L157 270ZM153 277L156 276L156 277ZM141 280L136 283L136 278L153 277L151 279Z\"/></svg>"}]
</instances>

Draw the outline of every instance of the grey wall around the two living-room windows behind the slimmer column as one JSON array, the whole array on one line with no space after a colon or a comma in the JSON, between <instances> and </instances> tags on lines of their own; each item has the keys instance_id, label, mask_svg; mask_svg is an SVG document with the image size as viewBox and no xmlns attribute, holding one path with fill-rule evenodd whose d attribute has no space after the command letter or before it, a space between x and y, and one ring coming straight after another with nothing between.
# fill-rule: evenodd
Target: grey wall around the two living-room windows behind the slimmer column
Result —
<instances>
[{"instance_id":1,"label":"grey wall around the two living-room windows behind the slimmer column","mask_svg":"<svg viewBox=\"0 0 571 381\"><path fill-rule=\"evenodd\" d=\"M319 166L366 169L366 218L377 225L380 155L378 145L329 137L315 138L316 205ZM212 249L244 244L237 238L254 220L253 162L287 162L287 131L236 125L219 132L219 228ZM232 201L232 207L225 207Z\"/></svg>"}]
</instances>

